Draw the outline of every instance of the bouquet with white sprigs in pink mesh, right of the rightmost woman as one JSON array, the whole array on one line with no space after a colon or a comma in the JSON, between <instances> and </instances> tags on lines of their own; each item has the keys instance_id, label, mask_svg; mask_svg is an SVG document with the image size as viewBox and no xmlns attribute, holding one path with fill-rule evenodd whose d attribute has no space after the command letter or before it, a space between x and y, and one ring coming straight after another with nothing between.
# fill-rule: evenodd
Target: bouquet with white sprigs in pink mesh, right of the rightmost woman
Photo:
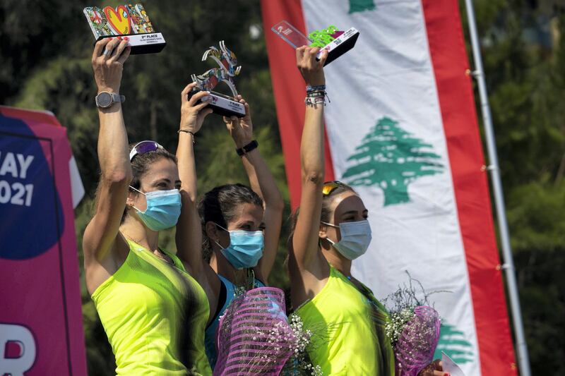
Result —
<instances>
[{"instance_id":1,"label":"bouquet with white sprigs in pink mesh, right of the rightmost woman","mask_svg":"<svg viewBox=\"0 0 565 376\"><path fill-rule=\"evenodd\" d=\"M400 287L384 299L390 313L385 331L393 345L397 376L417 376L432 362L439 341L441 320L427 301L430 294L425 293L422 284L420 288L423 300L417 298L410 278L409 286Z\"/></svg>"}]
</instances>

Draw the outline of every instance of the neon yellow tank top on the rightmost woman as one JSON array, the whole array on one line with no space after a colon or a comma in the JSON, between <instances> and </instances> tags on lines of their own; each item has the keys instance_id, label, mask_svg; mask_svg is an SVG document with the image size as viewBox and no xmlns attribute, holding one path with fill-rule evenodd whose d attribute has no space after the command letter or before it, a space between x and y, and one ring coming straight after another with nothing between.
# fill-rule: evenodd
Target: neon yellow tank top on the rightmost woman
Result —
<instances>
[{"instance_id":1,"label":"neon yellow tank top on the rightmost woman","mask_svg":"<svg viewBox=\"0 0 565 376\"><path fill-rule=\"evenodd\" d=\"M308 353L323 375L394 375L394 354L384 334L388 313L364 286L359 291L330 267L326 286L296 310L313 336Z\"/></svg>"}]
</instances>

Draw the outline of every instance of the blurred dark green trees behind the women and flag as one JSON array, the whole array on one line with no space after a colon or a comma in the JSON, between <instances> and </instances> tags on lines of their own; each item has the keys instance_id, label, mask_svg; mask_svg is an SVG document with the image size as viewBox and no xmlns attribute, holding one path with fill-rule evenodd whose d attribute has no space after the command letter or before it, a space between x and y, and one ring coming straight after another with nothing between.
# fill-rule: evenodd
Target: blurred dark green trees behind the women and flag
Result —
<instances>
[{"instance_id":1,"label":"blurred dark green trees behind the women and flag","mask_svg":"<svg viewBox=\"0 0 565 376\"><path fill-rule=\"evenodd\" d=\"M474 3L532 369L534 374L565 375L564 6L557 0ZM68 130L86 190L76 209L81 268L82 234L100 173L90 68L93 37L82 9L118 4L0 3L0 103L53 111ZM191 73L211 67L201 61L203 51L225 40L243 66L237 87L251 104L261 153L289 207L258 0L148 0L145 7L167 47L126 62L121 92L127 97L124 117L130 140L155 139L175 150L180 92ZM233 149L220 117L210 116L196 142L200 193L222 183L246 183ZM278 265L283 265L287 234L285 224ZM174 250L174 234L169 231L161 243ZM273 270L270 283L288 286L285 267ZM82 276L81 285L89 374L112 375L112 351Z\"/></svg>"}]
</instances>

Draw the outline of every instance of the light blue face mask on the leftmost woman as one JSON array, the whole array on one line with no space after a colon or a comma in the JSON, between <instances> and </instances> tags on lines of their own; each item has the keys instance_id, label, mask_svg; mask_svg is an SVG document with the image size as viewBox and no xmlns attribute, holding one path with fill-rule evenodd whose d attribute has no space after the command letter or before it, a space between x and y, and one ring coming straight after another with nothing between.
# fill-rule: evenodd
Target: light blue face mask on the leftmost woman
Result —
<instances>
[{"instance_id":1,"label":"light blue face mask on the leftmost woman","mask_svg":"<svg viewBox=\"0 0 565 376\"><path fill-rule=\"evenodd\" d=\"M132 186L130 188L137 190ZM145 195L145 200L147 200L147 209L144 212L135 206L133 207L137 210L137 215L145 223L145 226L153 231L160 231L177 224L181 214L181 194L178 189L153 190L153 192L148 193L143 193L141 190L137 191Z\"/></svg>"}]
</instances>

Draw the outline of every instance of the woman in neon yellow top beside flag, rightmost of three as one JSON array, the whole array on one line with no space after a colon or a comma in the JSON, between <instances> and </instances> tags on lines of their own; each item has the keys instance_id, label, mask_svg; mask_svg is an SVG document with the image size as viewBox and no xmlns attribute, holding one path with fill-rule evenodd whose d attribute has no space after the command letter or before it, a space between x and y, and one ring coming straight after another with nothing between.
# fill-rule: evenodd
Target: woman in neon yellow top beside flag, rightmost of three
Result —
<instances>
[{"instance_id":1,"label":"woman in neon yellow top beside flag, rightmost of three","mask_svg":"<svg viewBox=\"0 0 565 376\"><path fill-rule=\"evenodd\" d=\"M352 188L324 183L323 103L326 80L319 49L297 49L309 86L300 147L302 197L289 240L292 305L314 332L308 353L323 375L393 376L394 355L385 335L386 309L351 275L351 262L371 241L368 212ZM439 370L421 375L444 375Z\"/></svg>"}]
</instances>

